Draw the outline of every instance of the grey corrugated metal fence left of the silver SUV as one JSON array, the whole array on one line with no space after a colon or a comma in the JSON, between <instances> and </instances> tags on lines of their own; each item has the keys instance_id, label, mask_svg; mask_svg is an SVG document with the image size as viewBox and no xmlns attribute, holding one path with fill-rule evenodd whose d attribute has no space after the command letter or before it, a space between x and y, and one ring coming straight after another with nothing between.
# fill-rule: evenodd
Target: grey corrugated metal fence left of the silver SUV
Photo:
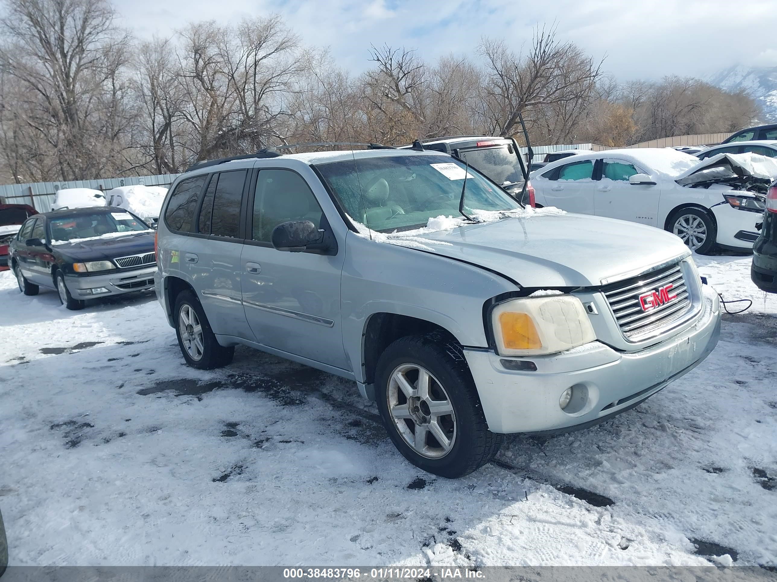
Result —
<instances>
[{"instance_id":1,"label":"grey corrugated metal fence left of the silver SUV","mask_svg":"<svg viewBox=\"0 0 777 582\"><path fill-rule=\"evenodd\" d=\"M31 182L27 184L0 185L0 199L5 204L30 204L39 212L51 210L54 194L65 188L92 188L105 192L119 186L143 184L169 186L180 174L155 176L127 176L127 178L102 178L99 180L74 180L72 182Z\"/></svg>"}]
</instances>

